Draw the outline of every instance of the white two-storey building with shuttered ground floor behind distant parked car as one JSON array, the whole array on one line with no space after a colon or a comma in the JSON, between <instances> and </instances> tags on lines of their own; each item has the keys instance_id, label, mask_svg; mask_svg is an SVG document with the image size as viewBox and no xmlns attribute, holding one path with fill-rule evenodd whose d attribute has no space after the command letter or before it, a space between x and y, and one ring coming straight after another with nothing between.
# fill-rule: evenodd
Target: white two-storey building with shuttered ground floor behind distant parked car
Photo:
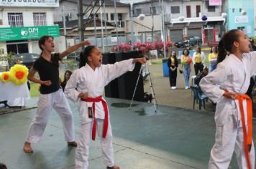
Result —
<instances>
[{"instance_id":1,"label":"white two-storey building with shuttered ground floor behind distant parked car","mask_svg":"<svg viewBox=\"0 0 256 169\"><path fill-rule=\"evenodd\" d=\"M158 14L163 17L163 32L172 42L197 36L208 44L218 41L225 31L221 6L211 6L207 0L142 1L133 4L133 11L134 16Z\"/></svg>"}]
</instances>

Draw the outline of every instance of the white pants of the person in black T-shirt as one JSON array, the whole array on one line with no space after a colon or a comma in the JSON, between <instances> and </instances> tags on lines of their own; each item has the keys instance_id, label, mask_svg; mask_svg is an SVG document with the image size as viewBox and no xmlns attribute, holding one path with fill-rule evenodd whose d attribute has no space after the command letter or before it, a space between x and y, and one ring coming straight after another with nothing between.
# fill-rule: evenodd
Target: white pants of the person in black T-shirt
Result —
<instances>
[{"instance_id":1,"label":"white pants of the person in black T-shirt","mask_svg":"<svg viewBox=\"0 0 256 169\"><path fill-rule=\"evenodd\" d=\"M37 103L37 113L34 120L32 120L27 134L27 142L39 142L45 131L52 107L56 110L63 122L65 140L67 142L73 142L75 140L73 115L68 100L66 99L63 90L60 89L47 95L40 95Z\"/></svg>"}]
</instances>

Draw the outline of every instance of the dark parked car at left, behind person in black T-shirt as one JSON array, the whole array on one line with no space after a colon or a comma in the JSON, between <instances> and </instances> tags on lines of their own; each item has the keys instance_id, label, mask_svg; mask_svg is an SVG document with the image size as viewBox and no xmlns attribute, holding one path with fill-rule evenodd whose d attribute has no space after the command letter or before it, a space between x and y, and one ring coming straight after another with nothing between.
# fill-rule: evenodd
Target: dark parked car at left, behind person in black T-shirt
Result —
<instances>
[{"instance_id":1,"label":"dark parked car at left, behind person in black T-shirt","mask_svg":"<svg viewBox=\"0 0 256 169\"><path fill-rule=\"evenodd\" d=\"M39 54L32 54L32 53L15 54L13 65L19 62L20 64L24 64L28 69L30 69L34 64L35 60L38 59L39 57L40 57Z\"/></svg>"}]
</instances>

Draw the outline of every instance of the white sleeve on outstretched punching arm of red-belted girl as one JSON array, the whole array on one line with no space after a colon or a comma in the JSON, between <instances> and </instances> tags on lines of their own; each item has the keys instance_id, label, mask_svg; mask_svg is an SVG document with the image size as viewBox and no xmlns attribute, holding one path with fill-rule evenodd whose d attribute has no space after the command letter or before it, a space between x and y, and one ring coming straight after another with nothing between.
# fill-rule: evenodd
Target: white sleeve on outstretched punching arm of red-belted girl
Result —
<instances>
[{"instance_id":1,"label":"white sleeve on outstretched punching arm of red-belted girl","mask_svg":"<svg viewBox=\"0 0 256 169\"><path fill-rule=\"evenodd\" d=\"M132 64L132 60L133 59L128 59L121 62L116 62L115 64L103 65L105 85L109 84L111 80L116 79L116 77L119 77L128 71L132 71L135 66L135 64Z\"/></svg>"}]
</instances>

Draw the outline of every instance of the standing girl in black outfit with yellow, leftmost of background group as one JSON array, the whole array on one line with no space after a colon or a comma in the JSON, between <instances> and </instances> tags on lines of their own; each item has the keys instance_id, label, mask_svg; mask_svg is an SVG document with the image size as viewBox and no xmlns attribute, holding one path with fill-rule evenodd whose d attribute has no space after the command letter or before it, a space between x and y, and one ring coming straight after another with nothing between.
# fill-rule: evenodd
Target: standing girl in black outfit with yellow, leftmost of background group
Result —
<instances>
[{"instance_id":1,"label":"standing girl in black outfit with yellow, leftmost of background group","mask_svg":"<svg viewBox=\"0 0 256 169\"><path fill-rule=\"evenodd\" d=\"M176 57L176 52L173 51L170 55L170 58L167 61L169 67L169 81L170 87L175 90L176 87L176 79L177 79L177 68L178 68L178 59Z\"/></svg>"}]
</instances>

